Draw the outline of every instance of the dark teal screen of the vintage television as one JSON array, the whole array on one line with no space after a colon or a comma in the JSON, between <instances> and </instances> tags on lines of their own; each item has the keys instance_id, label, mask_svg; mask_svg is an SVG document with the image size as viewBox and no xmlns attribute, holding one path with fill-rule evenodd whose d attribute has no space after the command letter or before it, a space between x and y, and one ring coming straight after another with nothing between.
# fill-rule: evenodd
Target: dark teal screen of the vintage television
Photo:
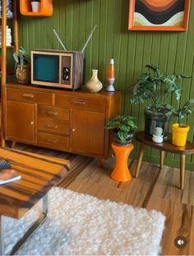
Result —
<instances>
[{"instance_id":1,"label":"dark teal screen of the vintage television","mask_svg":"<svg viewBox=\"0 0 194 256\"><path fill-rule=\"evenodd\" d=\"M59 82L59 56L55 55L34 55L34 80Z\"/></svg>"}]
</instances>

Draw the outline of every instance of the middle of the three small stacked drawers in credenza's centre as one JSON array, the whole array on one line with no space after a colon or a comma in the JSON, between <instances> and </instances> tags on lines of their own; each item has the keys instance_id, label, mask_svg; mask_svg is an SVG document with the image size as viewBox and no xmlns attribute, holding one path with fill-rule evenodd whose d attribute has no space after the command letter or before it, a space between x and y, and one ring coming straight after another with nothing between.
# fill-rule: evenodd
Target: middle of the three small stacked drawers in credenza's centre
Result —
<instances>
[{"instance_id":1,"label":"middle of the three small stacked drawers in credenza's centre","mask_svg":"<svg viewBox=\"0 0 194 256\"><path fill-rule=\"evenodd\" d=\"M38 118L38 131L57 134L69 134L69 123L64 119Z\"/></svg>"}]
</instances>

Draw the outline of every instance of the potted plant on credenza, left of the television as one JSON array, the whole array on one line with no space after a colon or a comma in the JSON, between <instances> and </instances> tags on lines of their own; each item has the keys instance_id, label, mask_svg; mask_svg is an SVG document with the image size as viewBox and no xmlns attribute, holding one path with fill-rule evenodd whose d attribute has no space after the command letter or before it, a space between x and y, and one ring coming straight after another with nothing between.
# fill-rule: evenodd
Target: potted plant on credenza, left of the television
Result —
<instances>
[{"instance_id":1,"label":"potted plant on credenza, left of the television","mask_svg":"<svg viewBox=\"0 0 194 256\"><path fill-rule=\"evenodd\" d=\"M13 54L16 61L16 78L20 83L28 83L30 81L30 63L28 55L23 47L20 47L19 54Z\"/></svg>"}]
</instances>

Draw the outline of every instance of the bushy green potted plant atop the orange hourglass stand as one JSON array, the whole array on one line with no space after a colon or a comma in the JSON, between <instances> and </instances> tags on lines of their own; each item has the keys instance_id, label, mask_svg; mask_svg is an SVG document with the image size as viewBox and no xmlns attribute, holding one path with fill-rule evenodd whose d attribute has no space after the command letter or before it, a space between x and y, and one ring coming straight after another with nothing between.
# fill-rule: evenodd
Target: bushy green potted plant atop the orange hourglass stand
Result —
<instances>
[{"instance_id":1,"label":"bushy green potted plant atop the orange hourglass stand","mask_svg":"<svg viewBox=\"0 0 194 256\"><path fill-rule=\"evenodd\" d=\"M133 133L137 126L133 122L134 117L129 115L116 115L106 124L106 129L112 129L113 141L118 146L127 146L132 142Z\"/></svg>"}]
</instances>

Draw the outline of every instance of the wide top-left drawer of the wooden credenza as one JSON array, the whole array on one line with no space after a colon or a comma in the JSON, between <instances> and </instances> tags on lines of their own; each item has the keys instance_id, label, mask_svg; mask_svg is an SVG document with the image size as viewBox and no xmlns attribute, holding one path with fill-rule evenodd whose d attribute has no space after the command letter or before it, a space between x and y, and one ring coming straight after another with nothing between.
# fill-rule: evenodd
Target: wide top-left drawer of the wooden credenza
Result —
<instances>
[{"instance_id":1,"label":"wide top-left drawer of the wooden credenza","mask_svg":"<svg viewBox=\"0 0 194 256\"><path fill-rule=\"evenodd\" d=\"M7 88L7 100L17 100L51 105L52 94Z\"/></svg>"}]
</instances>

